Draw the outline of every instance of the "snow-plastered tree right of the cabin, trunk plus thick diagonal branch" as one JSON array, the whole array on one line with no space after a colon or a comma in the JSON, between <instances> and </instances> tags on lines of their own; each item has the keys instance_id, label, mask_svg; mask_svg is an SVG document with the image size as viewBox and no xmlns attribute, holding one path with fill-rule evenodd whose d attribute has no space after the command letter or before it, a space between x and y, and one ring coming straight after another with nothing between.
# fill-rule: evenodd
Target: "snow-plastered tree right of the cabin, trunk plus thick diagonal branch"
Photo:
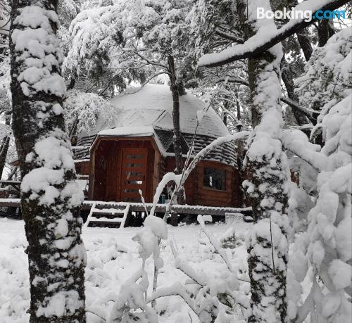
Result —
<instances>
[{"instance_id":1,"label":"snow-plastered tree right of the cabin, trunk plus thick diagonal branch","mask_svg":"<svg viewBox=\"0 0 352 323\"><path fill-rule=\"evenodd\" d=\"M309 3L312 11L341 4L337 4L337 1L326 1L324 4L316 4L313 1ZM243 6L243 1L237 1L237 5L239 12L248 13L248 20L243 21L246 42L224 49L220 53L203 56L199 63L215 67L249 58L252 120L253 125L257 125L249 139L249 151L246 155L249 179L244 183L251 197L256 222L249 239L252 309L249 322L286 322L289 172L287 156L283 153L287 145L282 145L285 137L281 129L282 115L279 106L279 61L282 51L278 44L306 24L299 19L290 20L277 30L272 21L256 18L258 6L270 10L268 1L248 1L247 7ZM289 146L292 149L294 145L291 143ZM313 165L318 163L311 158L316 155L302 156L302 151L297 147L294 147L294 151L303 160L310 159Z\"/></svg>"}]
</instances>

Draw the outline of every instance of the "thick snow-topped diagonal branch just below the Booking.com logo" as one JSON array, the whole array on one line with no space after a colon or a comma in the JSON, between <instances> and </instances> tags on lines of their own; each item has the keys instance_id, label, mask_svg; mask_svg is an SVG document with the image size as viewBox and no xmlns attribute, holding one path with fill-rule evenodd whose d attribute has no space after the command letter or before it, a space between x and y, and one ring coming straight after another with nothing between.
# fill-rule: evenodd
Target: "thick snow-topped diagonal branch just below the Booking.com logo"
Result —
<instances>
[{"instance_id":1,"label":"thick snow-topped diagonal branch just below the Booking.com logo","mask_svg":"<svg viewBox=\"0 0 352 323\"><path fill-rule=\"evenodd\" d=\"M294 11L312 11L315 13L318 10L333 11L344 4L348 0L308 0L298 4ZM199 66L213 68L222 66L239 59L254 58L260 53L267 51L279 42L282 42L287 37L298 32L299 30L311 25L315 20L305 21L305 18L291 18L289 22L282 26L279 30L262 30L257 32L253 37L248 39L244 44L239 44L228 49L224 49L220 53L208 53L199 59Z\"/></svg>"}]
</instances>

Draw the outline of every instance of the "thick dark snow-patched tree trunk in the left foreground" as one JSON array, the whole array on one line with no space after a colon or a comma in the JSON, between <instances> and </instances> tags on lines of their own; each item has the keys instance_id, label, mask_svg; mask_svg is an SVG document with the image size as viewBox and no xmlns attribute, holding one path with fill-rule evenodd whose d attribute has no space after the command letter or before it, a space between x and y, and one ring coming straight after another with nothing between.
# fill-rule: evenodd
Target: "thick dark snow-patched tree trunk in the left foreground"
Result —
<instances>
[{"instance_id":1,"label":"thick dark snow-patched tree trunk in the left foreground","mask_svg":"<svg viewBox=\"0 0 352 323\"><path fill-rule=\"evenodd\" d=\"M13 0L13 134L23 177L30 322L85 322L80 204L65 132L56 0Z\"/></svg>"}]
</instances>

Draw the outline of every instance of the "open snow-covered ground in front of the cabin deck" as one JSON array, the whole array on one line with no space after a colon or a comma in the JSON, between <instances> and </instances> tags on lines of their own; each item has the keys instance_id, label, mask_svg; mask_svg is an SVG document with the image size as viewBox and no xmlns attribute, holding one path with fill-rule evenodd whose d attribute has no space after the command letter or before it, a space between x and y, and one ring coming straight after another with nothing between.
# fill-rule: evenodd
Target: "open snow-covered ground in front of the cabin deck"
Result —
<instances>
[{"instance_id":1,"label":"open snow-covered ground in front of the cabin deck","mask_svg":"<svg viewBox=\"0 0 352 323\"><path fill-rule=\"evenodd\" d=\"M232 266L239 272L247 271L244 236L251 224L236 220L232 224L208 224L207 229L220 238L229 227L236 229L237 248L226 248ZM106 318L114 300L118 298L120 286L139 270L142 264L138 253L138 243L132 236L139 228L107 229L85 228L84 245L87 248L86 268L86 304L87 322L100 323L103 319L90 313L94 312ZM227 270L224 261L210 245L204 234L200 234L199 225L168 227L168 241L174 241L180 252L180 258L188 262L196 272L202 270L210 277L212 274ZM175 268L174 257L168 241L163 241L161 258L164 266L160 270L158 286L170 286L176 281L184 283L187 277ZM1 323L28 322L30 292L27 270L27 256L23 221L0 218L0 317ZM153 277L152 258L146 260L146 272L149 281ZM240 289L249 293L249 284L241 282ZM199 322L178 296L158 300L159 322Z\"/></svg>"}]
</instances>

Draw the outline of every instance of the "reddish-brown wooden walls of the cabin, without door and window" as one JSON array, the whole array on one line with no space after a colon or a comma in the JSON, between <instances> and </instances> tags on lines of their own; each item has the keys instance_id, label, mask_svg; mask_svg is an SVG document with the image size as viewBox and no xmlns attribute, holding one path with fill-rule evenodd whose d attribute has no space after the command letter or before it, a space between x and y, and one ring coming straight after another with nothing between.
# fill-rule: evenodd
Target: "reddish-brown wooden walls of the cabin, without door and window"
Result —
<instances>
[{"instance_id":1,"label":"reddish-brown wooden walls of the cabin, without door and window","mask_svg":"<svg viewBox=\"0 0 352 323\"><path fill-rule=\"evenodd\" d=\"M92 140L94 137L88 139ZM87 140L84 141L84 144L88 144ZM198 145L196 150L203 148L211 140L210 137L200 137L196 141ZM153 201L156 187L163 175L175 170L175 158L161 156L156 141L151 136L98 137L91 148L90 161L77 160L76 162L78 173L89 174L89 199L95 201L123 201L129 195L134 196L135 201L140 201L136 193L122 194L122 190L125 189L122 185L121 175L121 166L125 163L122 160L122 150L126 148L146 148L148 151L145 174L146 186L141 187L147 203ZM225 155L222 155L224 151ZM84 153L86 152L82 151L80 156L83 156ZM221 156L224 156L223 160ZM218 148L218 151L208 157L211 160L201 160L185 183L186 203L189 205L240 207L242 205L241 179L236 167L234 143ZM225 170L225 191L203 185L203 170L205 167ZM136 188L137 186L134 187L134 191L136 191Z\"/></svg>"}]
</instances>

